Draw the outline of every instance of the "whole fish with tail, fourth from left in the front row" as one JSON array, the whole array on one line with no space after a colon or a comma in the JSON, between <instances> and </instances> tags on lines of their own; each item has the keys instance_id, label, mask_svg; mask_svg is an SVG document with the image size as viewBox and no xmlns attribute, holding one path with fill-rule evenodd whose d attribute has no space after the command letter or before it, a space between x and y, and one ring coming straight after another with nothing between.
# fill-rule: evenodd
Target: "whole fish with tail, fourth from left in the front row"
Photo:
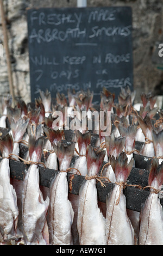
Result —
<instances>
[{"instance_id":1,"label":"whole fish with tail, fourth from left in the front row","mask_svg":"<svg viewBox=\"0 0 163 256\"><path fill-rule=\"evenodd\" d=\"M94 151L89 146L87 168L89 176L97 175L105 156L104 150ZM105 245L105 218L98 208L96 179L86 180L80 187L78 222L80 245Z\"/></svg>"}]
</instances>

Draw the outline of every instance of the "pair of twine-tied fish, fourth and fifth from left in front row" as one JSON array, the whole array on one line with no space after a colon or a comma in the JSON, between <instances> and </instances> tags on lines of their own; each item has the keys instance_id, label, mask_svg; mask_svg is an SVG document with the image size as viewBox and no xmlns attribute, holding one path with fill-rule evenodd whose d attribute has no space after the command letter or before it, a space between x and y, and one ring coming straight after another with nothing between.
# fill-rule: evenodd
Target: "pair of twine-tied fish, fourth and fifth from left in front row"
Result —
<instances>
[{"instance_id":1,"label":"pair of twine-tied fish, fourth and fifth from left in front row","mask_svg":"<svg viewBox=\"0 0 163 256\"><path fill-rule=\"evenodd\" d=\"M86 181L80 187L78 206L78 233L80 245L134 245L135 234L126 211L126 197L122 190L133 159L128 163L126 153L110 157L115 172L116 184L106 198L106 218L98 208L96 179L102 167L105 151L95 150L89 145L87 150ZM118 202L118 203L117 203ZM126 234L124 237L123 234Z\"/></svg>"}]
</instances>

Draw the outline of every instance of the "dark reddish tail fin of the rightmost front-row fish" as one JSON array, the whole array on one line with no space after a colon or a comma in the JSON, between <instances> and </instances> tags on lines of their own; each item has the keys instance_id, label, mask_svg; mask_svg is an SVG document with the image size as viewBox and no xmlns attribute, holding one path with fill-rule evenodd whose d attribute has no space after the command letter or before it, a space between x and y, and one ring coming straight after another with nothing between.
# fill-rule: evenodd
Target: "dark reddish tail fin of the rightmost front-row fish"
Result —
<instances>
[{"instance_id":1,"label":"dark reddish tail fin of the rightmost front-row fish","mask_svg":"<svg viewBox=\"0 0 163 256\"><path fill-rule=\"evenodd\" d=\"M158 187L163 184L163 162L159 164L158 159L153 159L149 169L148 185L152 186L153 180L156 179Z\"/></svg>"}]
</instances>

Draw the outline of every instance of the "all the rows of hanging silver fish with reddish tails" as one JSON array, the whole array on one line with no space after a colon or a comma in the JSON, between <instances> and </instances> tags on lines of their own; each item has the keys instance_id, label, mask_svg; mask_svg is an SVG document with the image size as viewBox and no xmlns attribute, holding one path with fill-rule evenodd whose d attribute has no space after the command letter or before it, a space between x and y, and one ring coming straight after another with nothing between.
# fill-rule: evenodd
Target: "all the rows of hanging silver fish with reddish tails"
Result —
<instances>
[{"instance_id":1,"label":"all the rows of hanging silver fish with reddish tails","mask_svg":"<svg viewBox=\"0 0 163 256\"><path fill-rule=\"evenodd\" d=\"M68 95L70 117L74 109L79 112L86 109L89 118L93 111L93 94L81 91L76 94L68 92ZM122 90L117 105L114 104L114 95L103 89L100 109L111 113L111 122L108 124L110 135L101 136L102 131L99 129L97 144L93 148L91 132L87 129L74 132L72 142L68 144L62 142L65 139L64 130L54 129L56 119L53 113L65 108L65 95L57 94L56 106L52 106L51 94L48 92L40 91L40 96L41 99L35 100L34 108L26 106L23 101L18 101L15 108L10 106L10 100L5 102L1 121L5 126L8 118L10 131L0 141L1 243L162 245L162 206L158 190L163 184L163 129L162 111L154 108L155 98L151 94L144 94L144 105L138 114L132 106L133 93L128 88ZM156 113L160 118L153 124L151 118ZM65 127L65 120L61 121ZM135 150L135 138L140 134L144 136L143 147L138 153ZM10 178L9 167L11 157L22 161L19 157L20 143L28 145L23 160L30 165L22 181ZM50 153L45 163L41 161L43 151ZM139 212L126 209L126 197L123 194L123 188L134 166L134 151L140 155L155 157L148 179L151 193L141 212L141 222ZM71 167L72 157L76 154L78 158ZM98 202L96 189L96 180L103 185L98 173L104 161L108 165L103 169L102 176L115 184L106 198L106 204ZM60 170L51 181L50 188L40 186L39 166ZM85 176L79 196L68 193L68 171Z\"/></svg>"}]
</instances>

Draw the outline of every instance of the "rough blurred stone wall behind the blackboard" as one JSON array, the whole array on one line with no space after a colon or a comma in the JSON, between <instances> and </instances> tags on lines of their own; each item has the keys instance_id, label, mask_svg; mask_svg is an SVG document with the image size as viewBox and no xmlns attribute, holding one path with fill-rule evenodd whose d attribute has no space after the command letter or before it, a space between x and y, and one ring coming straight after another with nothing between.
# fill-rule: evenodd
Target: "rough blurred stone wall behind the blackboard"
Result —
<instances>
[{"instance_id":1,"label":"rough blurred stone wall behind the blackboard","mask_svg":"<svg viewBox=\"0 0 163 256\"><path fill-rule=\"evenodd\" d=\"M76 0L4 0L14 92L26 103L30 101L28 56L27 8L77 7ZM140 93L152 91L163 95L162 59L158 56L158 44L163 44L162 0L87 0L87 7L130 6L133 10L133 59L135 102ZM4 44L0 18L0 43ZM9 93L5 51L0 57L0 102Z\"/></svg>"}]
</instances>

